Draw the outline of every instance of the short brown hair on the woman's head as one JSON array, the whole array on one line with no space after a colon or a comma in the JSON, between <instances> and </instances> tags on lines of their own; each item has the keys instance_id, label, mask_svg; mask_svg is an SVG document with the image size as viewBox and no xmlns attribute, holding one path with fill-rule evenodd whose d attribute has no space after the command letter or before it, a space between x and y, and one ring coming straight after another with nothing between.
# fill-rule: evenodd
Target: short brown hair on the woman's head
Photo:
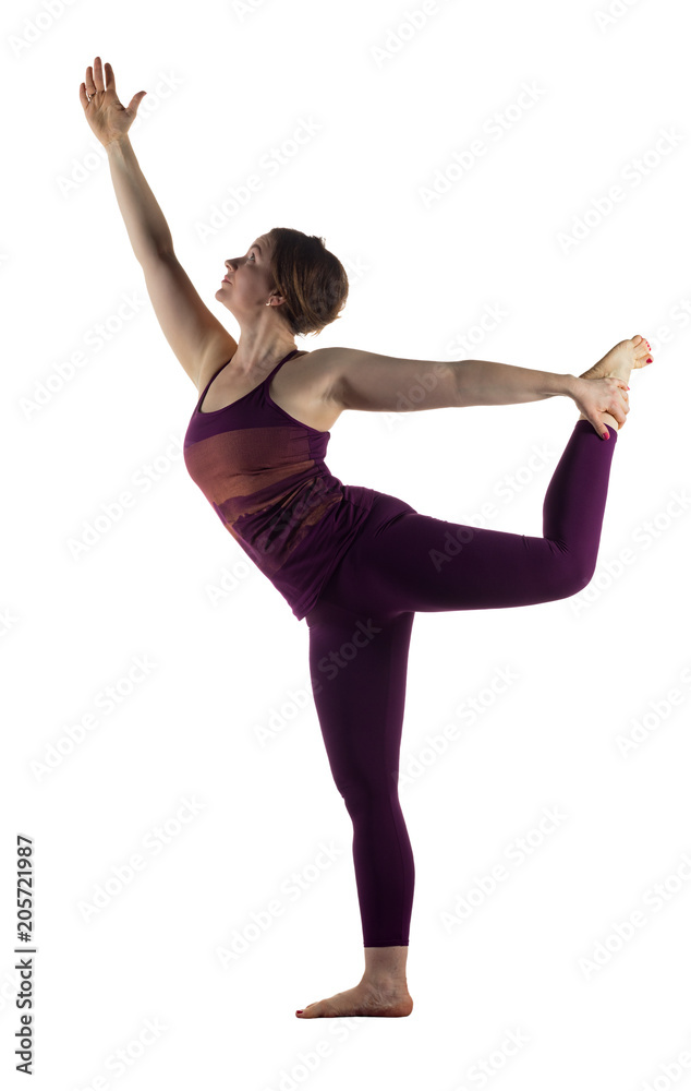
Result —
<instances>
[{"instance_id":1,"label":"short brown hair on the woman's head","mask_svg":"<svg viewBox=\"0 0 691 1091\"><path fill-rule=\"evenodd\" d=\"M272 227L267 238L274 247L271 275L286 297L279 313L293 336L320 333L340 317L348 299L346 269L316 235Z\"/></svg>"}]
</instances>

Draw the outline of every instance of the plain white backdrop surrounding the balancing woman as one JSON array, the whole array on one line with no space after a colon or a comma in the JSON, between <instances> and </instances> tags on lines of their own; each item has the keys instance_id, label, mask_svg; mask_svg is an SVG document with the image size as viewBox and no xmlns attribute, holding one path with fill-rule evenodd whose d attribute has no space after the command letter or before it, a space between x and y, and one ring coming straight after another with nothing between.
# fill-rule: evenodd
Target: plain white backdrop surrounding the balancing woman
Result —
<instances>
[{"instance_id":1,"label":"plain white backdrop surrounding the balancing woman","mask_svg":"<svg viewBox=\"0 0 691 1091\"><path fill-rule=\"evenodd\" d=\"M379 1086L378 1074L439 1091L689 1083L688 11L611 10L4 5L5 1071L25 834L39 1088L351 1089ZM288 226L323 236L351 280L343 316L301 348L578 374L623 337L653 346L631 379L587 592L416 615L401 750L416 864L408 1019L294 1017L364 968L352 826L307 691L306 623L247 566L182 461L198 394L157 324L84 118L78 86L96 55L125 105L148 91L133 146L178 256L233 335L215 299L223 259ZM305 120L318 131L291 143ZM660 154L665 132L675 146ZM449 170L478 140L485 154ZM284 163L269 171L276 148ZM426 202L436 171L452 180ZM252 173L262 190L233 212L230 192ZM490 308L502 316L483 329ZM327 461L422 513L481 525L493 502L484 525L541 535L577 417L567 398L349 412ZM154 464L144 491L135 482ZM134 505L75 556L71 541L123 490ZM214 602L229 573L234 587ZM155 666L99 711L134 657ZM518 678L490 698L498 670ZM471 698L485 705L464 726ZM68 729L88 712L97 722L70 750ZM625 756L618 739L634 721L647 733ZM435 753L428 740L451 726L456 740ZM180 823L185 800L196 813ZM535 834L545 808L563 818ZM511 863L531 830L531 855ZM329 867L323 844L337 851ZM118 889L136 853L142 871ZM506 877L478 894L498 864ZM284 886L294 874L299 897ZM470 912L449 928L443 914L462 899ZM276 901L270 927L253 927ZM637 911L645 923L617 944ZM246 949L223 961L238 934ZM510 1031L524 1041L513 1055Z\"/></svg>"}]
</instances>

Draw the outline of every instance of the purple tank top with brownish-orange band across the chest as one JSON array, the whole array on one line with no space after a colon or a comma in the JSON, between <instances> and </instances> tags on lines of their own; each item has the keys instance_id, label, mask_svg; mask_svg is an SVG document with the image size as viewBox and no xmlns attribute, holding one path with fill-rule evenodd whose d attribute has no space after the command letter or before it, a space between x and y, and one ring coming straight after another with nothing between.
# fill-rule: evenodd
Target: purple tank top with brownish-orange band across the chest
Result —
<instances>
[{"instance_id":1,"label":"purple tank top with brownish-orange band across the chest","mask_svg":"<svg viewBox=\"0 0 691 1091\"><path fill-rule=\"evenodd\" d=\"M331 433L301 423L271 399L274 375L298 352L283 357L237 401L202 412L209 386L228 364L219 368L192 413L183 456L221 523L300 621L353 542L376 493L334 477L324 461Z\"/></svg>"}]
</instances>

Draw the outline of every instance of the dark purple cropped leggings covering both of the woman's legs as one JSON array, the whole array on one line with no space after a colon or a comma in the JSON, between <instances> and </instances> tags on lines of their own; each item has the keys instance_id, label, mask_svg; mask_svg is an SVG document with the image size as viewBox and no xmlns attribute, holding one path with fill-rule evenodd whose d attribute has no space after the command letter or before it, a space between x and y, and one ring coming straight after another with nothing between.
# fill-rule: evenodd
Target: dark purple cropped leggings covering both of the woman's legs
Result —
<instances>
[{"instance_id":1,"label":"dark purple cropped leggings covering both of the woman's legs","mask_svg":"<svg viewBox=\"0 0 691 1091\"><path fill-rule=\"evenodd\" d=\"M306 615L315 707L353 823L365 947L408 946L415 867L398 798L415 611L525 607L593 577L617 430L578 420L543 504L544 538L420 515L379 493Z\"/></svg>"}]
</instances>

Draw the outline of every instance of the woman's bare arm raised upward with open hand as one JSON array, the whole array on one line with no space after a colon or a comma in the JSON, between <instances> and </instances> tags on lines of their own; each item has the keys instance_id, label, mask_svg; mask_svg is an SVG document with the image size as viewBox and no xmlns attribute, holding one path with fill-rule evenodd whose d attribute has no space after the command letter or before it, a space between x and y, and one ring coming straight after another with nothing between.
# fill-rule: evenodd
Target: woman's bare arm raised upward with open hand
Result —
<instances>
[{"instance_id":1,"label":"woman's bare arm raised upward with open hand","mask_svg":"<svg viewBox=\"0 0 691 1091\"><path fill-rule=\"evenodd\" d=\"M87 95L88 92L88 95ZM99 57L86 70L80 99L86 120L108 153L110 177L122 218L144 271L146 289L168 344L192 382L199 387L209 367L234 355L238 343L206 307L173 250L172 236L146 181L128 131L146 92L123 107L111 65Z\"/></svg>"}]
</instances>

